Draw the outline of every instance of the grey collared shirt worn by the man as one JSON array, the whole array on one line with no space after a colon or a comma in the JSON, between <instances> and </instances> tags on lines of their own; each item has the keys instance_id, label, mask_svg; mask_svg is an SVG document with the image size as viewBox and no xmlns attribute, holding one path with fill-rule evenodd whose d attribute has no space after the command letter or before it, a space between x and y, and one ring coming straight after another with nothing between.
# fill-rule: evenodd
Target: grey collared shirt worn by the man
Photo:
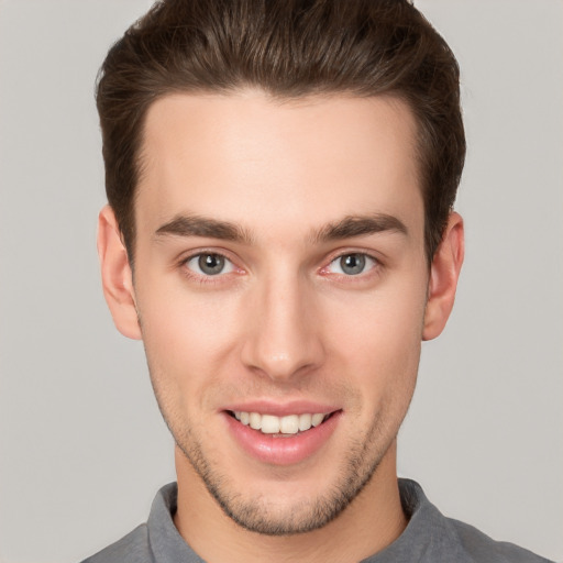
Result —
<instances>
[{"instance_id":1,"label":"grey collared shirt worn by the man","mask_svg":"<svg viewBox=\"0 0 563 563\"><path fill-rule=\"evenodd\" d=\"M550 563L512 543L497 542L466 523L445 518L418 483L399 479L409 523L383 551L361 563ZM148 521L82 563L206 563L174 526L176 483L153 501ZM355 562L351 562L355 563Z\"/></svg>"}]
</instances>

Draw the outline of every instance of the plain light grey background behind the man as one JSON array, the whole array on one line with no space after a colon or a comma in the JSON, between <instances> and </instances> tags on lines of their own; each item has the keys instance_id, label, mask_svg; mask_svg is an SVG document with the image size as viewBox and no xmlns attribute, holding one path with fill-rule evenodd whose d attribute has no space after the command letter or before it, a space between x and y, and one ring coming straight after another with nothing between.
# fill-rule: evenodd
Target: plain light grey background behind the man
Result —
<instances>
[{"instance_id":1,"label":"plain light grey background behind the man","mask_svg":"<svg viewBox=\"0 0 563 563\"><path fill-rule=\"evenodd\" d=\"M93 80L146 0L0 1L0 561L73 562L147 515L173 444L95 251ZM399 470L563 559L563 3L418 0L463 70L467 258Z\"/></svg>"}]
</instances>

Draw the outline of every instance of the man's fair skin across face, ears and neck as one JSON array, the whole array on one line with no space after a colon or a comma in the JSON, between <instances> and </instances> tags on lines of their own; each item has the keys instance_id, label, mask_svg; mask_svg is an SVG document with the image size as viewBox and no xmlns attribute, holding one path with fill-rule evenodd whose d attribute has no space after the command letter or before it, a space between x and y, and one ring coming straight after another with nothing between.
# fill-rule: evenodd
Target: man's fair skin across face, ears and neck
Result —
<instances>
[{"instance_id":1,"label":"man's fair skin across face, ears and neck","mask_svg":"<svg viewBox=\"0 0 563 563\"><path fill-rule=\"evenodd\" d=\"M415 133L384 98L186 93L148 110L134 276L110 208L98 245L177 443L176 526L207 561L357 561L406 526L396 435L463 262L452 213L429 272ZM225 269L206 275L201 254ZM225 412L249 401L322 407L333 430L298 462L257 459Z\"/></svg>"}]
</instances>

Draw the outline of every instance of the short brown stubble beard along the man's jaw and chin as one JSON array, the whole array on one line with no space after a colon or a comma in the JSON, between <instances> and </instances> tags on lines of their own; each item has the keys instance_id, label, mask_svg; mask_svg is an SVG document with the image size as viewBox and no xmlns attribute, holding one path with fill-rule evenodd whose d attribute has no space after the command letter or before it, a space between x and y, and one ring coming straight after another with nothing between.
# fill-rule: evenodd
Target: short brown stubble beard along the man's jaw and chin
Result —
<instances>
[{"instance_id":1,"label":"short brown stubble beard along the man's jaw and chin","mask_svg":"<svg viewBox=\"0 0 563 563\"><path fill-rule=\"evenodd\" d=\"M147 355L148 358L148 355ZM166 393L161 389L156 372L148 362L151 383L161 413L176 445L185 455L209 494L216 499L223 512L242 528L265 536L292 536L323 528L345 510L375 475L385 454L396 440L398 430L407 413L413 388L408 400L397 410L387 405L374 416L367 431L347 440L347 451L343 455L341 470L332 484L327 485L323 494L314 498L296 501L277 510L268 501L267 495L249 498L244 490L236 488L228 473L213 466L206 455L202 440L194 431L189 420L173 421L176 409L168 408ZM169 397L168 397L169 398ZM397 405L395 405L397 407ZM401 408L402 407L402 408ZM395 412L395 416L390 416ZM227 470L228 471L228 470Z\"/></svg>"}]
</instances>

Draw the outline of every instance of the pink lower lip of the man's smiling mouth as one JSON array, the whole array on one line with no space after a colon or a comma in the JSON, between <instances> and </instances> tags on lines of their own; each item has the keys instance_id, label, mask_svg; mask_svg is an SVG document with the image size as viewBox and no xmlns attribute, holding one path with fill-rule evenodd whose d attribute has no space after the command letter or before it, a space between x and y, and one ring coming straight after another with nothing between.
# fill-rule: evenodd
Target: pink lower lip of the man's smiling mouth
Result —
<instances>
[{"instance_id":1,"label":"pink lower lip of the man's smiling mouth","mask_svg":"<svg viewBox=\"0 0 563 563\"><path fill-rule=\"evenodd\" d=\"M229 431L241 448L263 463L292 465L313 455L334 432L342 411L331 415L322 424L292 435L264 434L242 424L224 412Z\"/></svg>"}]
</instances>

